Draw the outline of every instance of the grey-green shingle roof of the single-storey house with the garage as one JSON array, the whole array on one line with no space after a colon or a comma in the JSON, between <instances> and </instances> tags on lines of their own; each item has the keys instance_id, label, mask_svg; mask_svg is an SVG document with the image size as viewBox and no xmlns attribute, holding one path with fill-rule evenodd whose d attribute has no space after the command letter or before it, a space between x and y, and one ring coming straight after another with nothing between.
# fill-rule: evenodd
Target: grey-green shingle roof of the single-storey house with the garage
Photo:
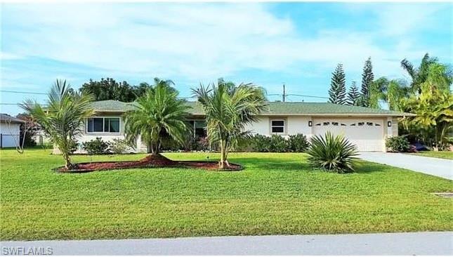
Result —
<instances>
[{"instance_id":1,"label":"grey-green shingle roof of the single-storey house with the garage","mask_svg":"<svg viewBox=\"0 0 453 257\"><path fill-rule=\"evenodd\" d=\"M203 109L197 102L188 102L192 114L203 115ZM131 103L124 103L117 100L104 100L93 102L93 108L97 112L126 112L133 109ZM340 116L414 116L407 112L395 112L380 110L369 107L358 107L350 105L336 105L333 103L304 103L304 102L268 102L262 115L340 115Z\"/></svg>"}]
</instances>

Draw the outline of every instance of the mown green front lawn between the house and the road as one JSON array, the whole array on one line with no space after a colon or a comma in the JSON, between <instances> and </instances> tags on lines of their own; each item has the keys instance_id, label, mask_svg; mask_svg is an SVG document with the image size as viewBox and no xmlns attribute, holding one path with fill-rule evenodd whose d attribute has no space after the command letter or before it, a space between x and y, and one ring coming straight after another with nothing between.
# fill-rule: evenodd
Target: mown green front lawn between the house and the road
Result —
<instances>
[{"instance_id":1,"label":"mown green front lawn between the house and the road","mask_svg":"<svg viewBox=\"0 0 453 257\"><path fill-rule=\"evenodd\" d=\"M172 159L217 154L171 153ZM75 162L143 154L76 156ZM1 150L1 240L453 230L452 182L360 162L313 171L304 154L231 154L244 171L126 169L63 174L49 150Z\"/></svg>"}]
</instances>

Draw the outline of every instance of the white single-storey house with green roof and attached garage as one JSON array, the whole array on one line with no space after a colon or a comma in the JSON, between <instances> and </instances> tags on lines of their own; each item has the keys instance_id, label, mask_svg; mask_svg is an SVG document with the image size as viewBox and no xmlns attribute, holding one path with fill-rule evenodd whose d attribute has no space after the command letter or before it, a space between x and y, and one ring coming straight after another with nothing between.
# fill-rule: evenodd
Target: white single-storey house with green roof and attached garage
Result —
<instances>
[{"instance_id":1,"label":"white single-storey house with green roof and attached garage","mask_svg":"<svg viewBox=\"0 0 453 257\"><path fill-rule=\"evenodd\" d=\"M195 102L188 102L192 114L188 122L192 124L196 136L205 136L204 112ZM122 115L133 105L116 100L93 103L96 115L87 119L84 135L80 142L101 137L103 140L124 138ZM378 110L367 107L335 105L332 103L282 103L270 102L258 121L247 126L247 131L265 136L273 134L288 136L303 133L308 138L331 131L342 134L366 152L385 152L386 138L398 136L398 119L414 114ZM146 146L138 138L136 150L145 152Z\"/></svg>"}]
</instances>

